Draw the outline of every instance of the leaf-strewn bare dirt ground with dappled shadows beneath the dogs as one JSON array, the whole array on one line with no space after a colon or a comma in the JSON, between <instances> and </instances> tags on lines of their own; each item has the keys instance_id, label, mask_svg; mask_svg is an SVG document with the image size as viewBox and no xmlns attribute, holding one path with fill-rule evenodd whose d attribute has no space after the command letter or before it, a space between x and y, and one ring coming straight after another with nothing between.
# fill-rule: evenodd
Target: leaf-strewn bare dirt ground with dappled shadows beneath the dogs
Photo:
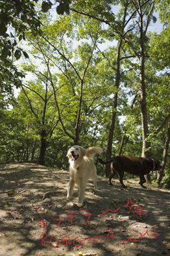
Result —
<instances>
[{"instance_id":1,"label":"leaf-strewn bare dirt ground with dappled shadows beneath the dogs","mask_svg":"<svg viewBox=\"0 0 170 256\"><path fill-rule=\"evenodd\" d=\"M170 254L169 190L99 177L99 191L89 181L79 209L77 188L66 200L68 181L65 170L0 164L0 255Z\"/></svg>"}]
</instances>

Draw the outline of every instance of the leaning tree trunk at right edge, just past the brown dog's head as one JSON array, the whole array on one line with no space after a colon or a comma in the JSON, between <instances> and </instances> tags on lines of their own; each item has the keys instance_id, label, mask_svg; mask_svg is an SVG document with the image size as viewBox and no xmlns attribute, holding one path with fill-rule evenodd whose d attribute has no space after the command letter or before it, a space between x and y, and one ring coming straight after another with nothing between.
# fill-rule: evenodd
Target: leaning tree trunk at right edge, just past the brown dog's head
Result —
<instances>
[{"instance_id":1,"label":"leaning tree trunk at right edge, just past the brown dog's head","mask_svg":"<svg viewBox=\"0 0 170 256\"><path fill-rule=\"evenodd\" d=\"M166 161L167 161L167 150L168 150L168 147L169 147L169 139L170 139L170 127L167 129L167 137L166 137L165 145L164 145L162 170L157 172L158 186L160 186L160 182L162 181L162 177L164 175L165 165L166 165Z\"/></svg>"}]
</instances>

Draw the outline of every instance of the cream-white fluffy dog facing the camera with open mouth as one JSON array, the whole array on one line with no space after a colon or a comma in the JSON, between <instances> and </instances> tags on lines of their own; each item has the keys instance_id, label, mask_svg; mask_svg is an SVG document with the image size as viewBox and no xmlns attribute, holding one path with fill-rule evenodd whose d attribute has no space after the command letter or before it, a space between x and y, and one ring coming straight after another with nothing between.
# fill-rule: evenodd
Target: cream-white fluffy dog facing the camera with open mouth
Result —
<instances>
[{"instance_id":1,"label":"cream-white fluffy dog facing the camera with open mouth","mask_svg":"<svg viewBox=\"0 0 170 256\"><path fill-rule=\"evenodd\" d=\"M96 153L101 154L101 147L84 147L73 146L67 152L69 157L70 181L67 190L67 200L71 198L75 183L79 186L79 201L78 207L82 207L84 203L84 194L88 179L92 179L95 190L97 190L97 172L93 162L93 157Z\"/></svg>"}]
</instances>

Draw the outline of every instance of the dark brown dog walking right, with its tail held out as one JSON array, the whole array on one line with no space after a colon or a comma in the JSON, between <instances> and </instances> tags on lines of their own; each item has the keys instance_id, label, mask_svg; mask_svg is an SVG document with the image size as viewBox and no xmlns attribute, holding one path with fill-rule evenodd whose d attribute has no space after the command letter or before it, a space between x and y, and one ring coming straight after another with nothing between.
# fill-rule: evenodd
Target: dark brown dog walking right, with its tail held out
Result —
<instances>
[{"instance_id":1,"label":"dark brown dog walking right, with its tail held out","mask_svg":"<svg viewBox=\"0 0 170 256\"><path fill-rule=\"evenodd\" d=\"M114 157L113 159L103 161L101 159L98 159L101 164L109 164L111 162L111 170L112 174L109 177L109 185L112 185L111 179L114 177L116 173L119 174L119 181L123 188L127 188L123 184L123 175L124 172L128 172L133 175L140 176L140 182L139 184L143 187L143 183L146 182L146 179L144 175L149 174L152 170L158 170L162 168L160 165L160 162L156 159L146 158L146 157L128 157L127 155L118 155L117 157Z\"/></svg>"}]
</instances>

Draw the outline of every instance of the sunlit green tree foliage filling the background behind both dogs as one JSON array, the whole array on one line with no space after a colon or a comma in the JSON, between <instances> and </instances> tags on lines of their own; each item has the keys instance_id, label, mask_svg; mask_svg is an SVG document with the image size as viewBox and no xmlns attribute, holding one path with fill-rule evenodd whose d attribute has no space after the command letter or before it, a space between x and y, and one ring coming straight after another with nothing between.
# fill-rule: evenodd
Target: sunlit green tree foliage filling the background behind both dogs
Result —
<instances>
[{"instance_id":1,"label":"sunlit green tree foliage filling the background behind both dogs","mask_svg":"<svg viewBox=\"0 0 170 256\"><path fill-rule=\"evenodd\" d=\"M119 154L121 140L125 136L121 153L140 157L140 64L134 58L134 51L140 56L140 31L137 23L123 28L122 19L125 8L127 16L132 15L132 5L127 5L125 1L65 1L57 6L58 14L68 14L69 8L72 10L79 7L80 13L86 10L89 16L71 11L69 15L57 15L52 18L48 10L52 8L54 2L43 1L43 12L37 17L33 17L33 2L30 14L37 18L37 22L40 21L33 25L28 14L25 14L27 19L24 20L23 9L12 9L15 3L7 6L8 10L12 10L9 11L9 16L14 12L19 13L19 18L16 16L13 18L14 22L10 23L13 27L18 26L16 37L8 34L4 25L0 35L0 161L38 161L42 147L45 147L45 164L67 169L67 150L75 144L75 138L86 148L103 147L101 158L104 159L113 111L116 112L116 118L112 156ZM25 3L28 3L29 8L30 2ZM120 4L120 9L115 15L114 8L111 7L117 3ZM164 8L164 1L161 3L160 8ZM164 17L163 11L161 12L162 21L165 23L167 14ZM134 17L137 17L136 15L134 13ZM93 19L94 16L97 19ZM152 19L156 20L154 17ZM6 21L7 27L9 20ZM106 21L110 26L103 27L101 21ZM146 19L144 23L146 24ZM25 27L22 27L22 24ZM34 27L36 25L37 27ZM32 34L33 28L35 31ZM123 34L127 37L131 35L129 44L132 47L130 48L127 42L121 42L118 88L115 87L117 46L113 44L106 47L104 42L117 40L118 43L120 38L123 39ZM29 43L22 44L23 39ZM167 126L164 126L156 137L152 135L170 109L169 71L164 70L169 68L168 39L169 26L165 24L164 31L160 34L149 32L144 41L149 123L147 139L152 142L152 156L160 162ZM22 55L25 58L21 58ZM21 60L21 71L14 66L12 58ZM16 100L13 97L14 86L22 88ZM115 93L118 94L117 108L113 109ZM104 175L104 168L98 164L97 157L95 164L97 172ZM167 166L168 164L169 155ZM162 186L168 182L169 170L166 167ZM155 175L152 176L152 183L156 184Z\"/></svg>"}]
</instances>

